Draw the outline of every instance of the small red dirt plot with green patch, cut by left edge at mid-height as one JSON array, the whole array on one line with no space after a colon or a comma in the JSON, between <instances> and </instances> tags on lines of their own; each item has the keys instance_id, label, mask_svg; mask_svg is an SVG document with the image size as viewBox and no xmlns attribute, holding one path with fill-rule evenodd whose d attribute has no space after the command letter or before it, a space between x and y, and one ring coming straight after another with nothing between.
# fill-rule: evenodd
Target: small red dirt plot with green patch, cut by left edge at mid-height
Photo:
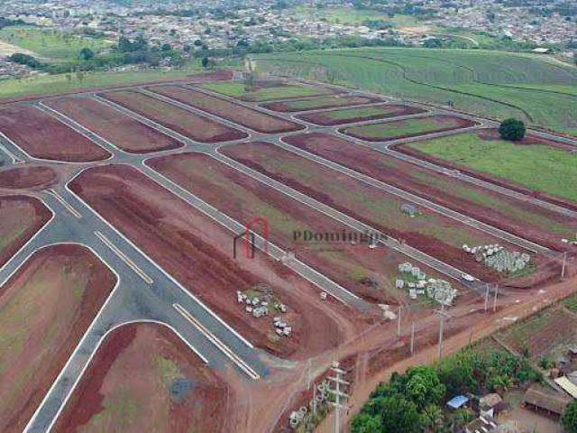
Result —
<instances>
[{"instance_id":1,"label":"small red dirt plot with green patch, cut by left edge at mid-height","mask_svg":"<svg viewBox=\"0 0 577 433\"><path fill-rule=\"evenodd\" d=\"M0 197L0 234L3 236L9 233L3 233L4 229L9 226L16 226L19 235L6 244L0 250L0 266L4 265L28 240L44 226L52 214L48 207L45 207L38 198L29 196L2 196ZM5 218L10 218L6 220ZM30 224L21 228L25 218L29 218ZM22 230L22 233L20 231Z\"/></svg>"}]
</instances>

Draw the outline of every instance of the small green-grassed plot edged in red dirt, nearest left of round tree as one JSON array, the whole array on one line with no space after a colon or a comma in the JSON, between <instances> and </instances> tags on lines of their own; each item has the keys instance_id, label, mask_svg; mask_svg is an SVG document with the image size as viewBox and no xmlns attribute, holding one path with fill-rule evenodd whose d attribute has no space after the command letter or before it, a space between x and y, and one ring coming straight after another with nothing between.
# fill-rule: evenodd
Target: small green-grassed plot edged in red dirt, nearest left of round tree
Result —
<instances>
[{"instance_id":1,"label":"small green-grassed plot edged in red dirt, nearest left of round tree","mask_svg":"<svg viewBox=\"0 0 577 433\"><path fill-rule=\"evenodd\" d=\"M442 133L472 126L474 122L452 115L431 115L418 119L398 120L383 124L362 124L343 128L343 134L369 142L386 142L421 134Z\"/></svg>"}]
</instances>

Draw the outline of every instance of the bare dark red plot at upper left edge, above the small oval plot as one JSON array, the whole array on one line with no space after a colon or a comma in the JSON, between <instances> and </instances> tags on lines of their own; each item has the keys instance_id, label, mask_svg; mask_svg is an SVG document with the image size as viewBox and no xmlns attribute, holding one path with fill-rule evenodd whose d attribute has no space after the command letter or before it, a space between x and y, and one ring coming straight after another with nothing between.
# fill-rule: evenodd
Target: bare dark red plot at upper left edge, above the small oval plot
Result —
<instances>
[{"instance_id":1,"label":"bare dark red plot at upper left edge, above the small oval plot","mask_svg":"<svg viewBox=\"0 0 577 433\"><path fill-rule=\"evenodd\" d=\"M30 105L0 107L0 131L34 158L89 162L111 156L84 135Z\"/></svg>"}]
</instances>

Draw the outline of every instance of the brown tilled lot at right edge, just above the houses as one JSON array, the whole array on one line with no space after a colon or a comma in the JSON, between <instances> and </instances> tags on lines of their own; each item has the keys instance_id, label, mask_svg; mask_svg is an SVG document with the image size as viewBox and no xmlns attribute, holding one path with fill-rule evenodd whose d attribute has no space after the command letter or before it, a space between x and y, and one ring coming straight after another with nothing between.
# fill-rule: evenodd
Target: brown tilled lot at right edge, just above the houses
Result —
<instances>
[{"instance_id":1,"label":"brown tilled lot at right edge, just above the houses","mask_svg":"<svg viewBox=\"0 0 577 433\"><path fill-rule=\"evenodd\" d=\"M517 352L527 352L535 360L544 357L556 360L577 343L575 329L577 316L562 307L554 307L508 327L497 336Z\"/></svg>"}]
</instances>

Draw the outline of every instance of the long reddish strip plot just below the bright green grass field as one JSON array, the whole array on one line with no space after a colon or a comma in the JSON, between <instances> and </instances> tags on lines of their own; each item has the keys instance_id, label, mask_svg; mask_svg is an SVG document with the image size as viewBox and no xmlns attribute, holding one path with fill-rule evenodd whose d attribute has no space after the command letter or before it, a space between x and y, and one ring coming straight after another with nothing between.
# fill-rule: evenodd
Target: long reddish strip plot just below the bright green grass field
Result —
<instances>
[{"instance_id":1,"label":"long reddish strip plot just below the bright green grass field","mask_svg":"<svg viewBox=\"0 0 577 433\"><path fill-rule=\"evenodd\" d=\"M566 249L561 240L577 232L575 218L426 170L334 135L298 134L283 141L550 248Z\"/></svg>"}]
</instances>

